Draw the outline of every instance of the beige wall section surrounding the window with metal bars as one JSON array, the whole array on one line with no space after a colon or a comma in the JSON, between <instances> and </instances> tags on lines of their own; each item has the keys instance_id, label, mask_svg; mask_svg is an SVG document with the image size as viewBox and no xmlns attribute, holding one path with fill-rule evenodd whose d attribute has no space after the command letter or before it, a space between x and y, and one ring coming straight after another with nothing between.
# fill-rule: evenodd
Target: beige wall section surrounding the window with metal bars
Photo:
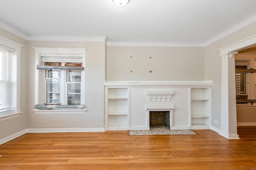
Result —
<instances>
[{"instance_id":1,"label":"beige wall section surrounding the window with metal bars","mask_svg":"<svg viewBox=\"0 0 256 170\"><path fill-rule=\"evenodd\" d=\"M33 47L86 48L86 113L36 114L34 91L28 93L28 128L104 127L104 42L28 41L28 89L34 89L35 50Z\"/></svg>"}]
</instances>

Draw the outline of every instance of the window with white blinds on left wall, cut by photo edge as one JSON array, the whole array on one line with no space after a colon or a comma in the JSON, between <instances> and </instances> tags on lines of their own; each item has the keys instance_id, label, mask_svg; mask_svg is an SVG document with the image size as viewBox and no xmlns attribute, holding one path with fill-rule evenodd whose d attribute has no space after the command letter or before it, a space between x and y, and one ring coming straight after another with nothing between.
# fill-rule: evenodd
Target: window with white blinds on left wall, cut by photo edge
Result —
<instances>
[{"instance_id":1,"label":"window with white blinds on left wall, cut by photo edge","mask_svg":"<svg viewBox=\"0 0 256 170\"><path fill-rule=\"evenodd\" d=\"M0 120L21 113L18 71L21 47L20 44L0 37Z\"/></svg>"}]
</instances>

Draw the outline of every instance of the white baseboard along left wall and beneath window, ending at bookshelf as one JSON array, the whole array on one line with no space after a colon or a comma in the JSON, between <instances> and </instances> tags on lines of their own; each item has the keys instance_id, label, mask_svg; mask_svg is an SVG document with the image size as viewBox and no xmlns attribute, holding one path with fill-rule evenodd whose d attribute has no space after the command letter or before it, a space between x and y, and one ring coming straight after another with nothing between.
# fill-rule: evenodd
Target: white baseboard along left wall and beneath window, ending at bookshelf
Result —
<instances>
[{"instance_id":1,"label":"white baseboard along left wall and beneath window, ending at bookshelf","mask_svg":"<svg viewBox=\"0 0 256 170\"><path fill-rule=\"evenodd\" d=\"M26 133L104 132L104 127L28 128L0 139L0 145Z\"/></svg>"}]
</instances>

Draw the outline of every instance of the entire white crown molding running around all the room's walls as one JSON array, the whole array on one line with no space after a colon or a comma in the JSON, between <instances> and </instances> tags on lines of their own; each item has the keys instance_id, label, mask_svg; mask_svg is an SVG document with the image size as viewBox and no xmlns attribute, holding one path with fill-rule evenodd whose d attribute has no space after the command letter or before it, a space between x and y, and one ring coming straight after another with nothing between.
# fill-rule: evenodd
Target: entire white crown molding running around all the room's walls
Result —
<instances>
[{"instance_id":1,"label":"entire white crown molding running around all the room's walls","mask_svg":"<svg viewBox=\"0 0 256 170\"><path fill-rule=\"evenodd\" d=\"M236 25L230 27L225 32L220 35L206 41L204 43L178 43L178 42L135 42L135 41L108 41L107 36L27 36L26 34L18 31L17 29L12 28L10 25L0 21L0 27L9 31L19 37L22 37L28 41L92 41L92 42L105 42L108 46L141 46L141 47L206 47L223 37L238 31L239 29L253 23L256 21L256 14L248 17L246 20L237 23Z\"/></svg>"}]
</instances>

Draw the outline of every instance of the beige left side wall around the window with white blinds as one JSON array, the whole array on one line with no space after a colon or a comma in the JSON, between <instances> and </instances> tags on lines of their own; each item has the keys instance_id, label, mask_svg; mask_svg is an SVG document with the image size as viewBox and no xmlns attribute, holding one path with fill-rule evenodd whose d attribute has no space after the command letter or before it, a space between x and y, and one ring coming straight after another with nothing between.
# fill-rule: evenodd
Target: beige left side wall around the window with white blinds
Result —
<instances>
[{"instance_id":1,"label":"beige left side wall around the window with white blinds","mask_svg":"<svg viewBox=\"0 0 256 170\"><path fill-rule=\"evenodd\" d=\"M0 28L0 36L10 39L16 43L24 45L21 48L20 54L20 111L23 113L11 119L0 121L0 139L12 135L13 133L22 131L27 128L27 41L17 35L14 35L2 28Z\"/></svg>"}]
</instances>

